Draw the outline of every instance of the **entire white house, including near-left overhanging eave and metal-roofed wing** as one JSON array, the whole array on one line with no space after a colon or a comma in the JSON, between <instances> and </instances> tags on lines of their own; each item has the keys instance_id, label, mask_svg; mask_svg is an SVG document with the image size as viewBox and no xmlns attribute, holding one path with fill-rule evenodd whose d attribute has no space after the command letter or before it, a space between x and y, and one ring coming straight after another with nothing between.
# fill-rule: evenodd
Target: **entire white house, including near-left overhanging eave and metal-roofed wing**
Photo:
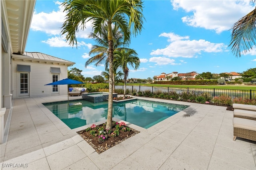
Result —
<instances>
[{"instance_id":1,"label":"entire white house, including near-left overhanging eave and metal-roofed wing","mask_svg":"<svg viewBox=\"0 0 256 170\"><path fill-rule=\"evenodd\" d=\"M12 101L18 97L67 94L67 86L44 86L67 78L73 62L25 47L36 0L1 0L0 143L8 132Z\"/></svg>"}]
</instances>

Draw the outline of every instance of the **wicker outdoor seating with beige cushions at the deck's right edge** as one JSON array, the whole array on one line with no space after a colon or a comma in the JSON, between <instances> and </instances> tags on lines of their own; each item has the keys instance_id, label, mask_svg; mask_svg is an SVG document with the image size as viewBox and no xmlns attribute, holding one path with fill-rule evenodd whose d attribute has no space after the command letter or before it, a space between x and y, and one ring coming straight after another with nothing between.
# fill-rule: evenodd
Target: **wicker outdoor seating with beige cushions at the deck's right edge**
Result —
<instances>
[{"instance_id":1,"label":"wicker outdoor seating with beige cushions at the deck's right edge","mask_svg":"<svg viewBox=\"0 0 256 170\"><path fill-rule=\"evenodd\" d=\"M233 104L234 139L236 137L256 141L256 105Z\"/></svg>"}]
</instances>

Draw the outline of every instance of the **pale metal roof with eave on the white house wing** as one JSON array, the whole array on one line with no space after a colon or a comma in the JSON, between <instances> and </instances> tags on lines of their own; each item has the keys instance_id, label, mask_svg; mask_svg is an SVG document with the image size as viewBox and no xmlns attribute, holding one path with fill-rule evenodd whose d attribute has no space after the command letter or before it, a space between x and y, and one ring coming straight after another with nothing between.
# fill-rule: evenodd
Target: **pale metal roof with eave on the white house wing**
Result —
<instances>
[{"instance_id":1,"label":"pale metal roof with eave on the white house wing","mask_svg":"<svg viewBox=\"0 0 256 170\"><path fill-rule=\"evenodd\" d=\"M39 52L24 52L23 55L16 55L13 54L12 58L16 59L28 59L28 60L35 60L35 61L45 61L45 62L53 62L53 63L65 63L65 64L70 64L74 65L74 62L61 59L58 57L53 57L52 55L47 55L44 53L39 53Z\"/></svg>"}]
</instances>

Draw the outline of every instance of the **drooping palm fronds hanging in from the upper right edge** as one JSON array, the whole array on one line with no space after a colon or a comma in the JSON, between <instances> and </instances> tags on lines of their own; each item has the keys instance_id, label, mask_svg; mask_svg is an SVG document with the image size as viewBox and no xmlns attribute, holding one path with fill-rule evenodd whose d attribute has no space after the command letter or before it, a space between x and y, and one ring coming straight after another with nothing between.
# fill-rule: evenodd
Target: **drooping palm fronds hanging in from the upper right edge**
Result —
<instances>
[{"instance_id":1,"label":"drooping palm fronds hanging in from the upper right edge","mask_svg":"<svg viewBox=\"0 0 256 170\"><path fill-rule=\"evenodd\" d=\"M256 2L256 0L251 1ZM231 29L232 35L229 46L232 46L232 52L236 57L241 57L241 51L244 54L256 45L256 7L238 20Z\"/></svg>"}]
</instances>

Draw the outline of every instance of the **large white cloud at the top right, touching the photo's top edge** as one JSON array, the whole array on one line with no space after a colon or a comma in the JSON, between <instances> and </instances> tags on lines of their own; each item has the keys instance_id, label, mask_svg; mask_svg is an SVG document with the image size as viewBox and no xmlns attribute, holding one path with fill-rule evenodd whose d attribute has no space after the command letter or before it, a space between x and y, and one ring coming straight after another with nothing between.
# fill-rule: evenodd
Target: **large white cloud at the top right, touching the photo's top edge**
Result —
<instances>
[{"instance_id":1,"label":"large white cloud at the top right, touching the photo's top edge","mask_svg":"<svg viewBox=\"0 0 256 170\"><path fill-rule=\"evenodd\" d=\"M182 17L189 26L214 30L217 34L230 30L233 24L255 7L249 0L171 0L174 10L190 13Z\"/></svg>"}]
</instances>

